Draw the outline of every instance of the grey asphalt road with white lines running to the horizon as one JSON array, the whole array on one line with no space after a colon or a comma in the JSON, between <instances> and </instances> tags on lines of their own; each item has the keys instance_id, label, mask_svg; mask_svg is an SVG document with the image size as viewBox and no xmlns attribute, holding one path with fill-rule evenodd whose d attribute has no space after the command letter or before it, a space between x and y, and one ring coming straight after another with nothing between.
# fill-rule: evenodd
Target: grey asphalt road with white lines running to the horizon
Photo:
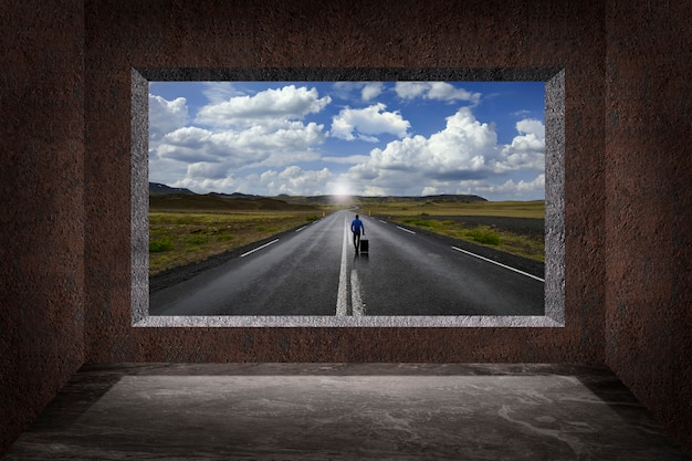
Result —
<instances>
[{"instance_id":1,"label":"grey asphalt road with white lines running to the horizon","mask_svg":"<svg viewBox=\"0 0 692 461\"><path fill-rule=\"evenodd\" d=\"M440 239L339 211L151 293L149 315L544 315L541 277Z\"/></svg>"}]
</instances>

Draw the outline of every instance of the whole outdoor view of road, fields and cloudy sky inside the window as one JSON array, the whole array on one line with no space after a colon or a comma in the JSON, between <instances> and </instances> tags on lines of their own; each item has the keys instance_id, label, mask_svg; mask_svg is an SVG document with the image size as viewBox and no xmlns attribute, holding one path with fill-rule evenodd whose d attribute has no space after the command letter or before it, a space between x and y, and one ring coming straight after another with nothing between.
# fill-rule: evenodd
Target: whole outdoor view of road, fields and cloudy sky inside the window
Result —
<instances>
[{"instance_id":1,"label":"whole outdoor view of road, fields and cloudy sky inside the window","mask_svg":"<svg viewBox=\"0 0 692 461\"><path fill-rule=\"evenodd\" d=\"M544 315L544 82L148 93L149 315Z\"/></svg>"}]
</instances>

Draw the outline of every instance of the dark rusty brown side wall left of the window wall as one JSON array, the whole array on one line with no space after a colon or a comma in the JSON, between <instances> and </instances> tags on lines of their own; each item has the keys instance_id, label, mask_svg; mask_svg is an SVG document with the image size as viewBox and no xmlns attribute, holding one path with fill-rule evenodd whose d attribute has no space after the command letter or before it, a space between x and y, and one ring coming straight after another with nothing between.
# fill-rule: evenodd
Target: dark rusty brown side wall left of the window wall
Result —
<instances>
[{"instance_id":1,"label":"dark rusty brown side wall left of the window wall","mask_svg":"<svg viewBox=\"0 0 692 461\"><path fill-rule=\"evenodd\" d=\"M84 363L83 9L0 6L0 454Z\"/></svg>"}]
</instances>

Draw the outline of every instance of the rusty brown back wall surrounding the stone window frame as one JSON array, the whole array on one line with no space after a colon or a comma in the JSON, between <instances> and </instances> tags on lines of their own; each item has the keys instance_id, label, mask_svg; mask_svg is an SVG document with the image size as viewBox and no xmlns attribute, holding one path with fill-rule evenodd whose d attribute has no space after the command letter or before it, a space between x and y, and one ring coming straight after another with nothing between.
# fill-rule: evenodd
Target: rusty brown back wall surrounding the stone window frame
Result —
<instances>
[{"instance_id":1,"label":"rusty brown back wall surrounding the stone window frame","mask_svg":"<svg viewBox=\"0 0 692 461\"><path fill-rule=\"evenodd\" d=\"M552 1L87 2L87 360L602 362L604 13ZM132 67L564 67L567 326L133 328Z\"/></svg>"}]
</instances>

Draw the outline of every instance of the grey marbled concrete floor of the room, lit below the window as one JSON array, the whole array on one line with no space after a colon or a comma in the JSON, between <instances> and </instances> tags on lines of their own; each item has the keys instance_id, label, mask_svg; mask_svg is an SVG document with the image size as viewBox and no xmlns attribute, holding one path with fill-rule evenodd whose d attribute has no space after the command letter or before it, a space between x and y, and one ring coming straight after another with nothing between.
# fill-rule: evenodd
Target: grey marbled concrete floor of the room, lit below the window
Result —
<instances>
[{"instance_id":1,"label":"grey marbled concrete floor of the room, lit below the window","mask_svg":"<svg viewBox=\"0 0 692 461\"><path fill-rule=\"evenodd\" d=\"M691 460L606 368L83 367L3 460Z\"/></svg>"}]
</instances>

